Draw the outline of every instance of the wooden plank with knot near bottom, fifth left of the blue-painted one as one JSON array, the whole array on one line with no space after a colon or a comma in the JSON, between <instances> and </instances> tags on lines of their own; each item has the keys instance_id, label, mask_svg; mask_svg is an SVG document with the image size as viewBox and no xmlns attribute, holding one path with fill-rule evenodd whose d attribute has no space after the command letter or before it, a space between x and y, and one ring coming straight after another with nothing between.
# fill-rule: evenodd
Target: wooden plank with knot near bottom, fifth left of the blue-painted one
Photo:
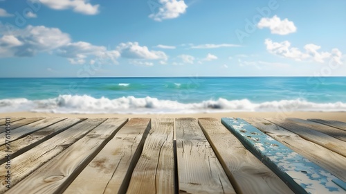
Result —
<instances>
[{"instance_id":1,"label":"wooden plank with knot near bottom, fifth left of the blue-painted one","mask_svg":"<svg viewBox=\"0 0 346 194\"><path fill-rule=\"evenodd\" d=\"M126 122L125 118L104 121L11 188L11 193L62 193Z\"/></svg>"}]
</instances>

